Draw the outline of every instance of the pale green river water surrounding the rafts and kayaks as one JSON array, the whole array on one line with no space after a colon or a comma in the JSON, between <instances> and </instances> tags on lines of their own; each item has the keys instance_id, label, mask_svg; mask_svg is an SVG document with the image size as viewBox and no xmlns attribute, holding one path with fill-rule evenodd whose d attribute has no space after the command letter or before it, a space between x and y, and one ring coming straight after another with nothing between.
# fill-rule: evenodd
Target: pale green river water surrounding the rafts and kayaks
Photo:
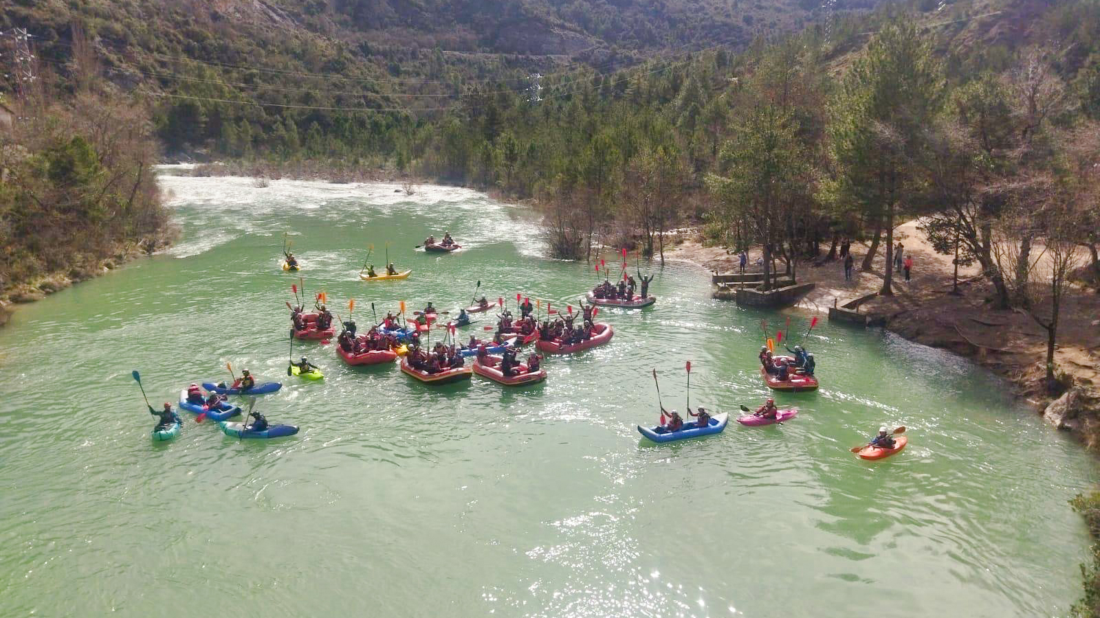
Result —
<instances>
[{"instance_id":1,"label":"pale green river water surrounding the rafts and kayaks","mask_svg":"<svg viewBox=\"0 0 1100 618\"><path fill-rule=\"evenodd\" d=\"M134 368L154 406L227 361L287 379L284 231L307 289L341 313L355 298L361 330L372 301L453 309L481 279L563 306L594 279L542 256L527 211L465 189L162 184L176 246L0 330L0 616L1035 617L1080 596L1088 536L1066 500L1097 466L942 352L821 323L822 389L777 396L798 418L642 442L651 367L669 408L686 360L693 405L768 396L759 322L783 316L712 300L689 264L653 266L658 305L607 312L610 344L548 358L542 386L431 388L308 343L326 379L257 405L298 435L242 442L182 415L152 443ZM444 229L466 249L413 250ZM359 282L387 242L413 277ZM880 424L908 426L909 448L848 452Z\"/></svg>"}]
</instances>

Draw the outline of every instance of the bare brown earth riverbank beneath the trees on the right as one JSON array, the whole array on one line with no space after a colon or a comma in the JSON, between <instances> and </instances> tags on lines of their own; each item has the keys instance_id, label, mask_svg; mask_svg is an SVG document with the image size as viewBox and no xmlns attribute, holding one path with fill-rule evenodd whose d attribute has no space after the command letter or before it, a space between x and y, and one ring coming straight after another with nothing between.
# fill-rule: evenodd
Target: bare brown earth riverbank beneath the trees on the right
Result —
<instances>
[{"instance_id":1,"label":"bare brown earth riverbank beneath the trees on the right","mask_svg":"<svg viewBox=\"0 0 1100 618\"><path fill-rule=\"evenodd\" d=\"M994 310L990 304L992 286L975 266L959 268L959 294L952 294L952 257L933 251L915 222L900 225L895 238L904 244L905 254L913 257L912 278L906 283L895 274L894 295L873 296L860 305L860 311L910 341L948 350L1004 377L1013 394L1050 424L1075 432L1088 448L1100 450L1100 321L1096 320L1100 295L1079 287L1066 295L1055 363L1071 384L1065 395L1055 399L1042 385L1046 332L1022 312ZM667 251L667 256L712 272L736 271L736 254L724 247L703 246L700 241L701 236L689 240ZM800 263L799 283L816 285L796 308L825 313L834 304L878 293L883 280L884 252L879 251L869 271L859 272L867 249L865 243L851 245L857 271L853 280L845 280L839 261L817 267ZM757 257L759 251L750 252L750 264Z\"/></svg>"}]
</instances>

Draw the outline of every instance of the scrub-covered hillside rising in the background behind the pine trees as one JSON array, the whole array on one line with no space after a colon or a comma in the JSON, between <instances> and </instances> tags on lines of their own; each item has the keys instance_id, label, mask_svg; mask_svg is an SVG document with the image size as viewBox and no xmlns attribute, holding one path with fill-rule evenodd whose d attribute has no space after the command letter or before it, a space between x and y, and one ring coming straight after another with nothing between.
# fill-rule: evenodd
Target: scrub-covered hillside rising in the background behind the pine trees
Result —
<instances>
[{"instance_id":1,"label":"scrub-covered hillside rising in the background behind the pine trees","mask_svg":"<svg viewBox=\"0 0 1100 618\"><path fill-rule=\"evenodd\" d=\"M876 1L823 12L807 0L15 0L0 27L25 27L41 75L63 88L92 63L123 90L160 97L168 153L249 156L272 145L257 135L292 152L316 125L315 142L346 145L327 154L388 158L473 88L736 51ZM343 110L362 111L326 113Z\"/></svg>"}]
</instances>

